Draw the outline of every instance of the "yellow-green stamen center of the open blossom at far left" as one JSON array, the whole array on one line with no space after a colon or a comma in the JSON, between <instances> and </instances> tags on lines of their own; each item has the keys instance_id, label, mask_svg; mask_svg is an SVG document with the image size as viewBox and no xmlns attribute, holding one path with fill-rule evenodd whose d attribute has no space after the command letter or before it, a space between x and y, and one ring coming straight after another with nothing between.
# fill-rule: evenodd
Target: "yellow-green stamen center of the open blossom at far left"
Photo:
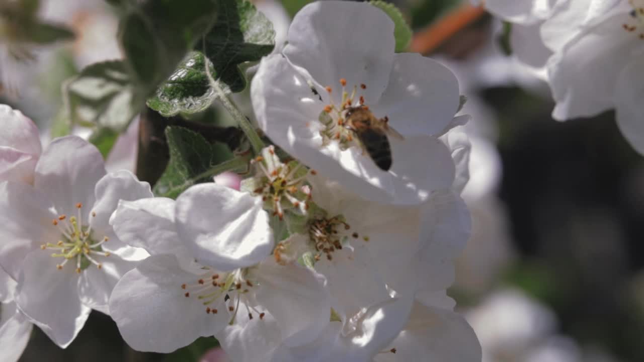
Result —
<instances>
[{"instance_id":1,"label":"yellow-green stamen center of the open blossom at far left","mask_svg":"<svg viewBox=\"0 0 644 362\"><path fill-rule=\"evenodd\" d=\"M64 258L64 260L56 265L56 268L62 268L70 261L75 260L76 272L81 273L87 269L91 264L96 265L97 268L103 267L102 263L96 260L97 257L109 256L109 252L102 251L102 244L107 242L109 238L104 236L101 240L96 242L93 238L93 231L90 226L84 225L82 220L82 204L76 204L78 210L77 216L67 218L62 214L52 220L52 224L61 232L61 240L57 243L45 243L41 245L43 250L55 250L52 254L53 258ZM92 217L96 213L91 213Z\"/></svg>"}]
</instances>

